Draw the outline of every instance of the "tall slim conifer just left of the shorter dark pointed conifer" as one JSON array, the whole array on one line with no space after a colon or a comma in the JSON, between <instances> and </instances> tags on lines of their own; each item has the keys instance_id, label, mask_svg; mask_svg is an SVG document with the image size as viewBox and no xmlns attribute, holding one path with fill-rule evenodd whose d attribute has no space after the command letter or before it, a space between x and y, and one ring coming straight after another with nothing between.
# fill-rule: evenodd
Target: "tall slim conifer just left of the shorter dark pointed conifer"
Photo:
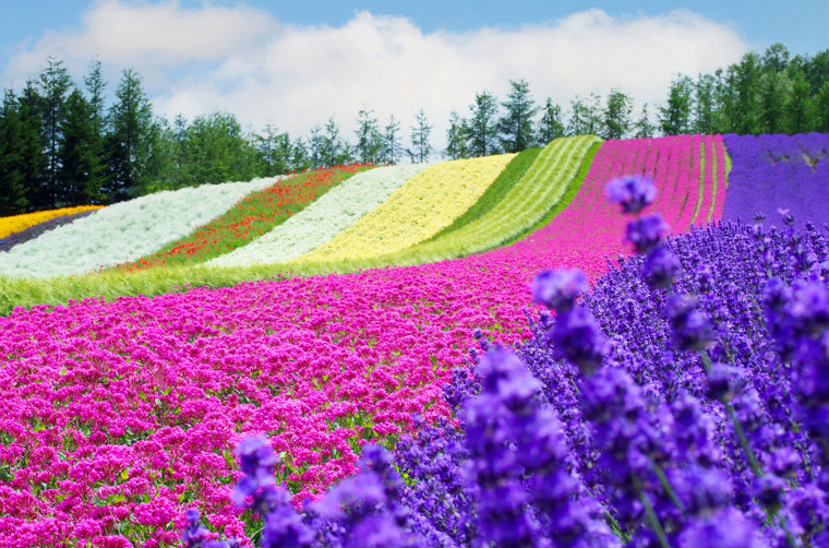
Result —
<instances>
[{"instance_id":1,"label":"tall slim conifer just left of the shorter dark pointed conifer","mask_svg":"<svg viewBox=\"0 0 829 548\"><path fill-rule=\"evenodd\" d=\"M47 172L44 190L47 203L45 205L56 207L62 194L62 183L59 177L60 127L64 116L67 95L72 87L72 81L63 61L53 57L47 58L46 68L38 78L38 87L46 140Z\"/></svg>"}]
</instances>

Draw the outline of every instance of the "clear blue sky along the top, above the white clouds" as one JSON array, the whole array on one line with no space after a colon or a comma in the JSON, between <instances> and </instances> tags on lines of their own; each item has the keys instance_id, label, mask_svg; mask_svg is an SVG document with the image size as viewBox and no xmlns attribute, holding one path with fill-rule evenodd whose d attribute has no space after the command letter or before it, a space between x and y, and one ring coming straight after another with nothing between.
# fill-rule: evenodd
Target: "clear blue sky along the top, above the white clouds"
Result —
<instances>
[{"instance_id":1,"label":"clear blue sky along the top, above the white clouds","mask_svg":"<svg viewBox=\"0 0 829 548\"><path fill-rule=\"evenodd\" d=\"M3 17L0 19L0 41L8 55L9 48L33 40L48 31L60 31L76 25L83 12L93 2L76 0L0 0ZM183 7L199 7L204 2L184 0ZM550 21L584 10L600 8L612 15L657 14L673 8L685 8L716 21L733 26L749 44L758 48L782 41L795 53L814 53L829 48L829 1L826 0L697 0L694 2L651 1L593 1L582 0L477 0L391 2L326 1L267 1L247 2L212 1L214 5L245 3L273 13L285 22L299 24L340 25L356 10L373 13L405 15L413 19L423 29L471 29L479 26L510 26Z\"/></svg>"}]
</instances>

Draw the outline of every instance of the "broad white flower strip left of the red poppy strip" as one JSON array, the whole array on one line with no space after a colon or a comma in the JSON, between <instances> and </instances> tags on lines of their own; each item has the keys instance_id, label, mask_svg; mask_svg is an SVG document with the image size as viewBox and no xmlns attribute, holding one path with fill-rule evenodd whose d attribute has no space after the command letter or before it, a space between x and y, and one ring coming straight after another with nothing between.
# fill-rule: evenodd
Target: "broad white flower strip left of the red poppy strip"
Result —
<instances>
[{"instance_id":1,"label":"broad white flower strip left of the red poppy strip","mask_svg":"<svg viewBox=\"0 0 829 548\"><path fill-rule=\"evenodd\" d=\"M67 276L134 261L183 238L277 180L202 184L110 205L0 252L0 276Z\"/></svg>"}]
</instances>

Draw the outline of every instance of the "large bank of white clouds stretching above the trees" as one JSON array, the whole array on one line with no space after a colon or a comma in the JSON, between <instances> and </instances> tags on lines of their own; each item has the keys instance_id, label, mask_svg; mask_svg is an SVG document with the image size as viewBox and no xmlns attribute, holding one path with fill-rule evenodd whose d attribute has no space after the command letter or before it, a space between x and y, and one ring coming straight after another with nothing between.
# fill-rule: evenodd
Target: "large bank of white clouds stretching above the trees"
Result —
<instances>
[{"instance_id":1,"label":"large bank of white clouds stretching above the trees","mask_svg":"<svg viewBox=\"0 0 829 548\"><path fill-rule=\"evenodd\" d=\"M482 90L503 98L510 79L565 110L576 94L613 87L652 105L677 72L712 72L747 50L735 29L687 10L615 17L592 9L519 27L424 32L365 11L341 26L300 26L249 7L107 0L80 27L46 33L13 56L3 82L32 76L47 55L77 75L99 57L110 80L137 70L170 117L221 109L254 129L269 122L305 134L334 116L349 134L360 109L381 122L394 114L408 132L423 108L440 145L452 110L466 115Z\"/></svg>"}]
</instances>

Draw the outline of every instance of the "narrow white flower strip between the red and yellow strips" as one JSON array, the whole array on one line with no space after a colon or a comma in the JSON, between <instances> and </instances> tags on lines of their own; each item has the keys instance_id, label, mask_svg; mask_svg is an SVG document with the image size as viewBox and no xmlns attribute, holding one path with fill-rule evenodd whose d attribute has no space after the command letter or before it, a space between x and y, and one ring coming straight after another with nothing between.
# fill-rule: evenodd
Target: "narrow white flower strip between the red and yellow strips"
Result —
<instances>
[{"instance_id":1,"label":"narrow white flower strip between the red and yellow strips","mask_svg":"<svg viewBox=\"0 0 829 548\"><path fill-rule=\"evenodd\" d=\"M244 247L217 257L208 266L287 262L325 243L383 203L426 164L377 167L358 174L320 196Z\"/></svg>"}]
</instances>

